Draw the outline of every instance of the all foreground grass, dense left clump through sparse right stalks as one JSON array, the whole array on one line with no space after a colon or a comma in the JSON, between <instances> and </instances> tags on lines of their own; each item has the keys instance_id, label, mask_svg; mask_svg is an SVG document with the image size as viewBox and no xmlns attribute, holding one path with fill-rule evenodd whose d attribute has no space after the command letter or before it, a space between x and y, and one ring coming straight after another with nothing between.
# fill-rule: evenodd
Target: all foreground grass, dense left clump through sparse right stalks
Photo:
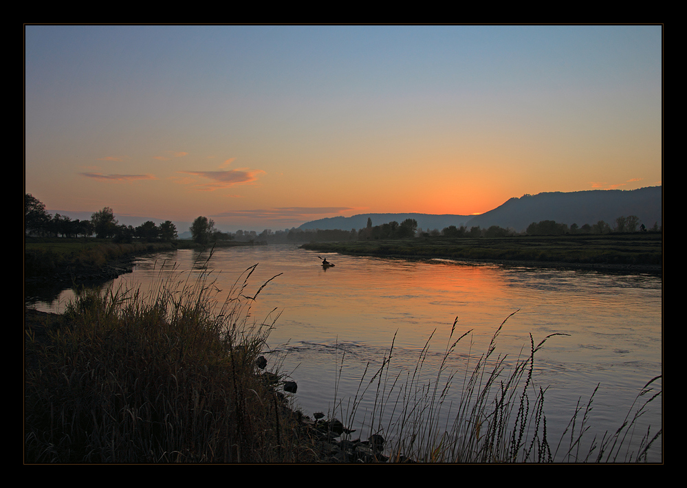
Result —
<instances>
[{"instance_id":1,"label":"all foreground grass, dense left clump through sparse right stalks","mask_svg":"<svg viewBox=\"0 0 687 488\"><path fill-rule=\"evenodd\" d=\"M84 290L60 316L27 312L25 462L628 462L660 449L662 430L638 432L637 419L659 403L661 377L638 392L617 431L586 439L592 395L561 439L548 439L534 362L558 334L532 339L507 362L494 353L503 324L462 373L442 366L428 384L417 379L425 350L407 381L390 374L392 344L381 368L360 379L342 421L311 420L292 408L295 382L279 364L265 368L274 321L250 319L268 284L250 289L253 270L224 300L208 275L174 276L147 293ZM469 346L470 331L458 335L455 322L444 364ZM346 425L366 395L375 395L375 411L365 414L373 434L361 440ZM438 425L446 408L454 420Z\"/></svg>"}]
</instances>

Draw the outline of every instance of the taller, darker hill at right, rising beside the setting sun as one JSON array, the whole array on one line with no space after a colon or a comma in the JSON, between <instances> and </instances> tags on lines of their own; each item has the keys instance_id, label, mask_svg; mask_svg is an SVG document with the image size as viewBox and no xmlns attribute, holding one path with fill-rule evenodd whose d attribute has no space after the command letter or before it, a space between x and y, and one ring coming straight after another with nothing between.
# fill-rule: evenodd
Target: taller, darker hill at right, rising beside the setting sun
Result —
<instances>
[{"instance_id":1,"label":"taller, darker hill at right, rising beside the setting sun","mask_svg":"<svg viewBox=\"0 0 687 488\"><path fill-rule=\"evenodd\" d=\"M637 190L587 190L581 192L546 192L512 198L503 205L470 219L467 227L489 228L498 225L517 232L532 222L552 220L580 226L604 221L613 227L620 216L636 215L646 227L662 225L662 187Z\"/></svg>"}]
</instances>

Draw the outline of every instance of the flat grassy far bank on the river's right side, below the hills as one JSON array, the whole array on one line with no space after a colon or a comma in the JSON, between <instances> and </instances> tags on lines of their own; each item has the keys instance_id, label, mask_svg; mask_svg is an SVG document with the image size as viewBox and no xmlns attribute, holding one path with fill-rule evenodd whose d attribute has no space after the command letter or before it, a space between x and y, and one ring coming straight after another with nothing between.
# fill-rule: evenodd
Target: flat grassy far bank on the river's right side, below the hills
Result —
<instances>
[{"instance_id":1,"label":"flat grassy far bank on the river's right side, below the hills","mask_svg":"<svg viewBox=\"0 0 687 488\"><path fill-rule=\"evenodd\" d=\"M663 262L663 241L659 232L461 239L435 236L406 240L309 243L301 247L318 252L363 256L560 264L609 269L633 267L646 271L660 271Z\"/></svg>"}]
</instances>

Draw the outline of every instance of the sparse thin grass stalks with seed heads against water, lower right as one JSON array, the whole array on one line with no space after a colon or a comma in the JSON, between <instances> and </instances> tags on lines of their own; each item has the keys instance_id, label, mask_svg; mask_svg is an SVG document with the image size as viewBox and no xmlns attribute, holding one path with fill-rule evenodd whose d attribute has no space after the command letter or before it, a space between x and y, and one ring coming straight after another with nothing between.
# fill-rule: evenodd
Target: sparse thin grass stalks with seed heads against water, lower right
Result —
<instances>
[{"instance_id":1,"label":"sparse thin grass stalks with seed heads against water, lower right","mask_svg":"<svg viewBox=\"0 0 687 488\"><path fill-rule=\"evenodd\" d=\"M510 318L510 316L509 316ZM494 333L486 353L464 370L449 370L448 360L472 331L455 338L455 320L441 366L430 380L422 380L428 354L427 341L413 371L392 373L393 343L382 366L371 378L360 380L358 392L344 408L338 401L334 414L347 425L363 425L376 439L386 440L378 459L424 463L551 463L551 462L640 462L655 447L662 430L635 432L648 404L662 391L655 391L655 377L638 393L624 421L615 432L601 439L587 439L592 393L586 405L578 405L560 439L549 439L545 414L546 389L534 386L536 353L555 335L535 344L511 360L496 355L497 338L505 322ZM468 357L472 357L470 342ZM343 362L343 359L342 359ZM598 388L598 387L597 387ZM356 419L365 395L374 395L372 412ZM443 420L442 420L443 419ZM640 439L637 439L637 437ZM350 435L347 436L350 439ZM583 447L586 446L586 447Z\"/></svg>"}]
</instances>

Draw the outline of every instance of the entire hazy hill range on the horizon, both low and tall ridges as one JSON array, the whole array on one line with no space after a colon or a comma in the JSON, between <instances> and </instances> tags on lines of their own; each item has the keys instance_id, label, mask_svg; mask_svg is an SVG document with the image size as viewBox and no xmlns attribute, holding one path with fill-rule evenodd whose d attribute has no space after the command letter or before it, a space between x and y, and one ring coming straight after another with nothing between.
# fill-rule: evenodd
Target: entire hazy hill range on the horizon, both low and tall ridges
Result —
<instances>
[{"instance_id":1,"label":"entire hazy hill range on the horizon, both low and tall ridges","mask_svg":"<svg viewBox=\"0 0 687 488\"><path fill-rule=\"evenodd\" d=\"M654 223L662 225L662 187L649 186L637 190L587 190L580 192L545 192L537 195L514 197L503 205L481 215L435 215L435 214L358 214L353 217L331 217L309 221L299 227L302 230L351 230L372 225L382 225L391 221L401 223L405 219L415 219L423 230L442 230L449 225L468 229L479 225L490 228L492 225L516 232L522 232L532 222L552 220L567 225L585 223L591 225L604 221L613 227L620 216L636 215L646 227Z\"/></svg>"}]
</instances>

